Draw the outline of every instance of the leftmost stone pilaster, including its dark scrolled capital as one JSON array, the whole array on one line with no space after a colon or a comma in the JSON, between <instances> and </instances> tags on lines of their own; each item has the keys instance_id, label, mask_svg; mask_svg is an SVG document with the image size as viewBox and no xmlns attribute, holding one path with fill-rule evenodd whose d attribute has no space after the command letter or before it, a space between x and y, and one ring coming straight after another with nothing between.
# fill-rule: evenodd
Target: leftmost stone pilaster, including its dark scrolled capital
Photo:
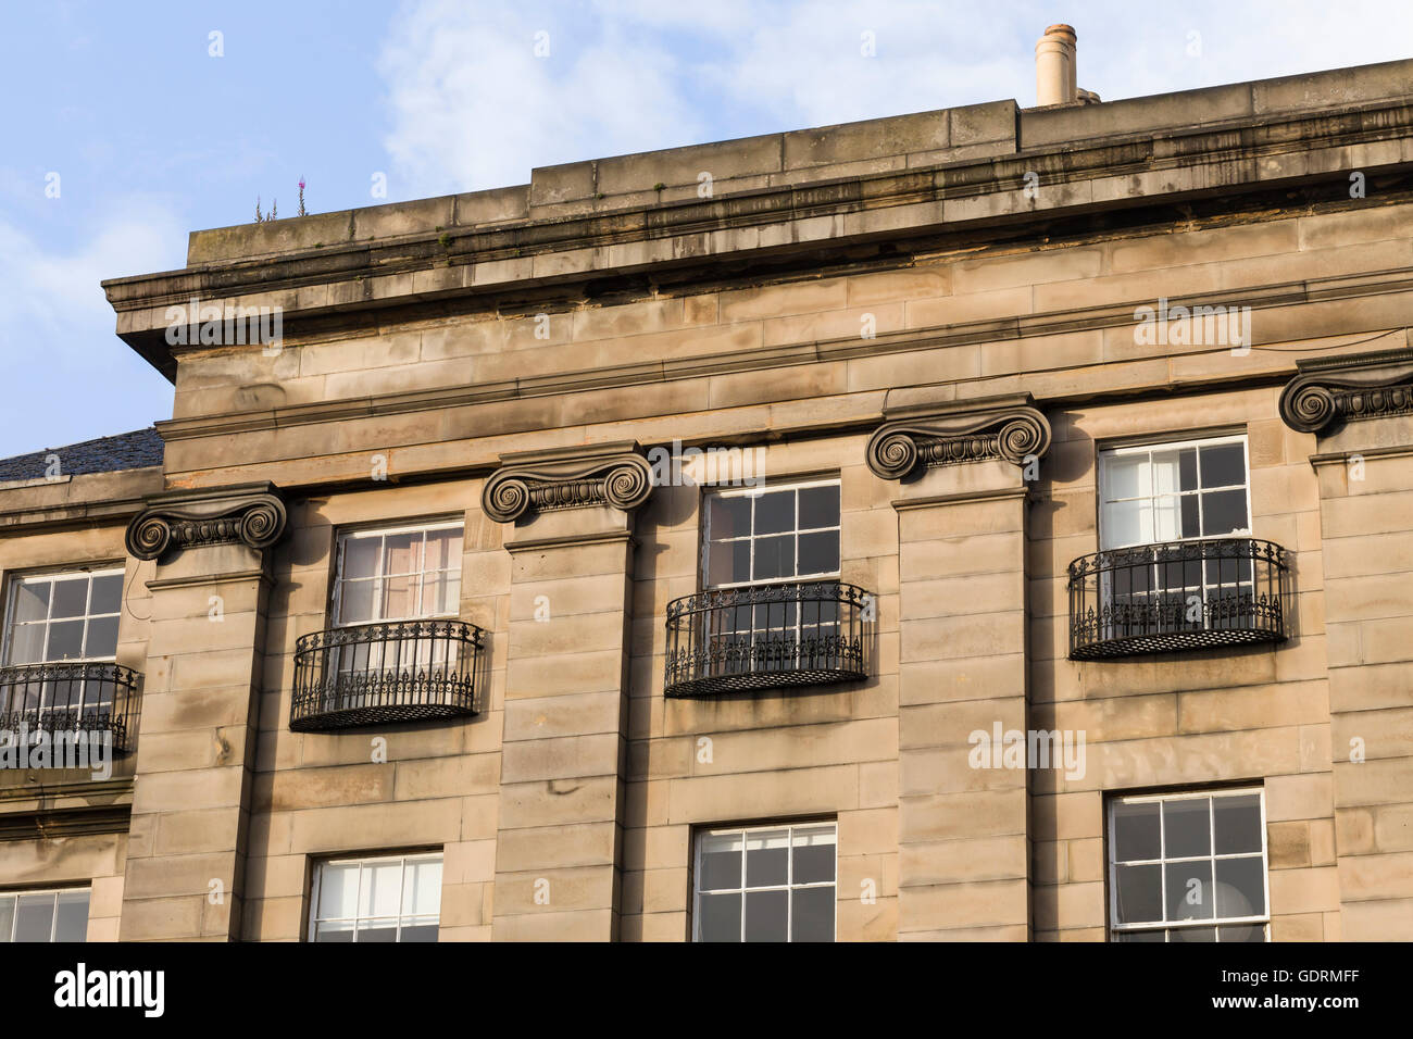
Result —
<instances>
[{"instance_id":1,"label":"leftmost stone pilaster, including its dark scrolled capital","mask_svg":"<svg viewBox=\"0 0 1413 1039\"><path fill-rule=\"evenodd\" d=\"M268 483L148 499L127 550L155 560L122 940L240 937L270 553Z\"/></svg>"}]
</instances>

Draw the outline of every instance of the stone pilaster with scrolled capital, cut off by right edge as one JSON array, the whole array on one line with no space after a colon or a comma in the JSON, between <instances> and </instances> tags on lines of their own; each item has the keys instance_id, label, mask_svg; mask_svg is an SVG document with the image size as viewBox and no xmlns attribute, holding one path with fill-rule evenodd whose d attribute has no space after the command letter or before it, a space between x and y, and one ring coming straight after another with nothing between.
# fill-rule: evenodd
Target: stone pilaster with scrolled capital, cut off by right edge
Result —
<instances>
[{"instance_id":1,"label":"stone pilaster with scrolled capital, cut off by right edge","mask_svg":"<svg viewBox=\"0 0 1413 1039\"><path fill-rule=\"evenodd\" d=\"M1413 349L1299 362L1280 414L1314 434L1340 933L1402 940L1413 930Z\"/></svg>"}]
</instances>

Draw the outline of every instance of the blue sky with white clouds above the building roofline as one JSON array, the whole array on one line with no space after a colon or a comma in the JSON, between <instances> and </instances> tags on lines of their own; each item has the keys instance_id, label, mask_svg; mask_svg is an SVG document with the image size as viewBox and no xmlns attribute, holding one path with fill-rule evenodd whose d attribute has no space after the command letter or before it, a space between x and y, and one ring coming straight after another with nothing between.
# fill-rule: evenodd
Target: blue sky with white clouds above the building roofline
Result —
<instances>
[{"instance_id":1,"label":"blue sky with white clouds above the building roofline","mask_svg":"<svg viewBox=\"0 0 1413 1039\"><path fill-rule=\"evenodd\" d=\"M374 174L397 201L626 151L1033 105L1053 21L1075 27L1080 86L1105 100L1413 57L1406 0L0 0L0 457L168 418L170 383L113 334L99 281L181 267L187 232L247 222L257 196L292 216L301 175L312 213L383 201Z\"/></svg>"}]
</instances>

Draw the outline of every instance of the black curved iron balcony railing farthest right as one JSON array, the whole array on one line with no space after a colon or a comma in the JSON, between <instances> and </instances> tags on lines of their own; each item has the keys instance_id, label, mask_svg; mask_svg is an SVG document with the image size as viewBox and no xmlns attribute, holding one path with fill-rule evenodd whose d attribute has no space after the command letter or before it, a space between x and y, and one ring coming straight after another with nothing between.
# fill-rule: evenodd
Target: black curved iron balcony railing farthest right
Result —
<instances>
[{"instance_id":1,"label":"black curved iron balcony railing farthest right","mask_svg":"<svg viewBox=\"0 0 1413 1039\"><path fill-rule=\"evenodd\" d=\"M1070 659L1283 642L1286 550L1249 537L1170 541L1070 564Z\"/></svg>"}]
</instances>

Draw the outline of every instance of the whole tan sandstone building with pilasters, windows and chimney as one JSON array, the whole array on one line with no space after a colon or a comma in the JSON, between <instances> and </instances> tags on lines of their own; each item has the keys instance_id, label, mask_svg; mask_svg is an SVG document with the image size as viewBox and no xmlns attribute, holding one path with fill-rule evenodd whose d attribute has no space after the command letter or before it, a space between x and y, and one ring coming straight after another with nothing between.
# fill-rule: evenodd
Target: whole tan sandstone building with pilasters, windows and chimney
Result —
<instances>
[{"instance_id":1,"label":"whole tan sandstone building with pilasters, windows and chimney","mask_svg":"<svg viewBox=\"0 0 1413 1039\"><path fill-rule=\"evenodd\" d=\"M1413 937L1413 61L1041 58L106 281L0 940Z\"/></svg>"}]
</instances>

